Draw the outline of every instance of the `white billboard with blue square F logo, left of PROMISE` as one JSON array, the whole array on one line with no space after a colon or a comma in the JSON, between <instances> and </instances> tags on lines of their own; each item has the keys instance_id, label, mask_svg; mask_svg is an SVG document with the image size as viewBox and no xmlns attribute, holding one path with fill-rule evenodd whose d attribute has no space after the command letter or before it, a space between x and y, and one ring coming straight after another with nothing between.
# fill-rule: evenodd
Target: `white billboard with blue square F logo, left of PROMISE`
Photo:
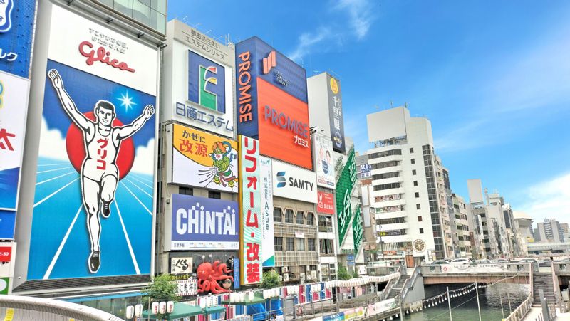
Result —
<instances>
[{"instance_id":1,"label":"white billboard with blue square F logo, left of PROMISE","mask_svg":"<svg viewBox=\"0 0 570 321\"><path fill-rule=\"evenodd\" d=\"M165 120L174 119L234 137L233 46L225 46L182 21L167 24ZM180 68L187 66L187 68Z\"/></svg>"}]
</instances>

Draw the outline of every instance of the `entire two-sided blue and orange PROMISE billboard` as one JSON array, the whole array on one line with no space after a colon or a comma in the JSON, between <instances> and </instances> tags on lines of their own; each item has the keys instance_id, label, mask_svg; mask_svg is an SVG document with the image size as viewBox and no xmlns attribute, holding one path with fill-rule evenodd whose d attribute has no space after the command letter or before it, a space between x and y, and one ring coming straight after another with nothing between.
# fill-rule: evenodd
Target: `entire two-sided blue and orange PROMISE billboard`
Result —
<instances>
[{"instance_id":1,"label":"entire two-sided blue and orange PROMISE billboard","mask_svg":"<svg viewBox=\"0 0 570 321\"><path fill-rule=\"evenodd\" d=\"M259 152L313 168L306 71L259 38L236 46L237 132Z\"/></svg>"}]
</instances>

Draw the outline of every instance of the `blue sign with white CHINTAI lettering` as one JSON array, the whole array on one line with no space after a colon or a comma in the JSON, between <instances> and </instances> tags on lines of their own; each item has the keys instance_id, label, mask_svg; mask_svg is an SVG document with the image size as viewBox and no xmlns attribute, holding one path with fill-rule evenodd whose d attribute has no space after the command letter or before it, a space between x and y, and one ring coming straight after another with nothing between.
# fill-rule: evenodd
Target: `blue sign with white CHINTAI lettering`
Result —
<instances>
[{"instance_id":1,"label":"blue sign with white CHINTAI lettering","mask_svg":"<svg viewBox=\"0 0 570 321\"><path fill-rule=\"evenodd\" d=\"M236 201L172 194L172 250L239 249Z\"/></svg>"}]
</instances>

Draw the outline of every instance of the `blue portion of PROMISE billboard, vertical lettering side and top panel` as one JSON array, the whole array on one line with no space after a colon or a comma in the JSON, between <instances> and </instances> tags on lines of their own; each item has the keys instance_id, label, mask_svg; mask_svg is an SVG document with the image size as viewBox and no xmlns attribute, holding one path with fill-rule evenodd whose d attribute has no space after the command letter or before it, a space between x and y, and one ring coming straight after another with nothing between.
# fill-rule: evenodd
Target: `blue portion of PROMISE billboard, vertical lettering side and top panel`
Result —
<instances>
[{"instance_id":1,"label":"blue portion of PROMISE billboard, vertical lettering side and top panel","mask_svg":"<svg viewBox=\"0 0 570 321\"><path fill-rule=\"evenodd\" d=\"M304 68L257 37L237 43L237 134L255 139L259 139L258 78L308 102Z\"/></svg>"}]
</instances>

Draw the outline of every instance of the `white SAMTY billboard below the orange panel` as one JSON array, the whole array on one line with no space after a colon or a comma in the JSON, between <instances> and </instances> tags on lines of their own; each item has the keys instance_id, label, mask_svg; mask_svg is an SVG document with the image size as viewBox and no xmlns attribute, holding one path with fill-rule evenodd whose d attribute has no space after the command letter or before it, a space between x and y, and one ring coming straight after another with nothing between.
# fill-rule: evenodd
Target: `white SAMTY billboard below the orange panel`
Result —
<instances>
[{"instance_id":1,"label":"white SAMTY billboard below the orange panel","mask_svg":"<svg viewBox=\"0 0 570 321\"><path fill-rule=\"evenodd\" d=\"M274 196L317 202L315 172L273 159L272 177Z\"/></svg>"}]
</instances>

